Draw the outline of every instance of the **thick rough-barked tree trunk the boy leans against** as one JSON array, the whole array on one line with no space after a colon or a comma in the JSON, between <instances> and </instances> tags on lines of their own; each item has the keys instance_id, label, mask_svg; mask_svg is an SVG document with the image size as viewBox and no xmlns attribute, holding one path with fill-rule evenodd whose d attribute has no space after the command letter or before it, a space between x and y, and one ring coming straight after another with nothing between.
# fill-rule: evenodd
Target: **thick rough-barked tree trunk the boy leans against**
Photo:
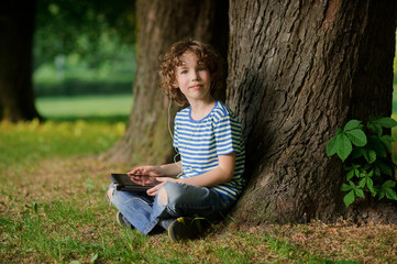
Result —
<instances>
[{"instance_id":1,"label":"thick rough-barked tree trunk the boy leans against","mask_svg":"<svg viewBox=\"0 0 397 264\"><path fill-rule=\"evenodd\" d=\"M346 120L392 113L395 0L230 1L228 103L246 139L251 223L332 220L341 163L326 143Z\"/></svg>"}]
</instances>

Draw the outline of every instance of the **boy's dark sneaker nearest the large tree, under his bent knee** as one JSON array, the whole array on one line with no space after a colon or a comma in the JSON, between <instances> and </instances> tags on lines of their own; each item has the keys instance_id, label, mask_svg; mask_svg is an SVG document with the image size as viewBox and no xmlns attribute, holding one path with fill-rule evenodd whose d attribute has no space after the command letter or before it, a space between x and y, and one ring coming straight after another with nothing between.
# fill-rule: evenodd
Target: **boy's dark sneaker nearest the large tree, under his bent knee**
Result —
<instances>
[{"instance_id":1,"label":"boy's dark sneaker nearest the large tree, under his bent knee","mask_svg":"<svg viewBox=\"0 0 397 264\"><path fill-rule=\"evenodd\" d=\"M202 233L200 220L197 218L178 218L169 223L168 237L172 241L191 240Z\"/></svg>"}]
</instances>

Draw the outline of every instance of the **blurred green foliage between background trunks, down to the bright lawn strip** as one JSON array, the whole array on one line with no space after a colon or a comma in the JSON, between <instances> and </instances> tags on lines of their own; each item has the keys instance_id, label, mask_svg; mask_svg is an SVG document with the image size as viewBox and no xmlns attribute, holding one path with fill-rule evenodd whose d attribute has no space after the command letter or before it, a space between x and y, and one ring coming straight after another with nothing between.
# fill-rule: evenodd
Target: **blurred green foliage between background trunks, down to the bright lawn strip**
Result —
<instances>
[{"instance_id":1,"label":"blurred green foliage between background trunks, down to the bright lawn strip","mask_svg":"<svg viewBox=\"0 0 397 264\"><path fill-rule=\"evenodd\" d=\"M135 75L134 1L38 0L35 95L131 91Z\"/></svg>"}]
</instances>

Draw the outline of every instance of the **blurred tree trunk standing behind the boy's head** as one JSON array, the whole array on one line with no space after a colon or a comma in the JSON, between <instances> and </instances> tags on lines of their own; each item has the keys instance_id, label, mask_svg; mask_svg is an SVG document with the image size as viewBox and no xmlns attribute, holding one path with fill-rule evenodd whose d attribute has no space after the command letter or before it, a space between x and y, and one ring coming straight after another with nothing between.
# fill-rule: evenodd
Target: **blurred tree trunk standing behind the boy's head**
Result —
<instances>
[{"instance_id":1,"label":"blurred tree trunk standing behind the boy's head","mask_svg":"<svg viewBox=\"0 0 397 264\"><path fill-rule=\"evenodd\" d=\"M134 164L170 160L172 138L167 129L169 102L159 90L158 57L174 42L187 37L211 43L220 52L227 53L228 4L224 0L137 1L137 72L133 109L124 138L104 157ZM175 111L176 108L173 108L172 119Z\"/></svg>"}]
</instances>

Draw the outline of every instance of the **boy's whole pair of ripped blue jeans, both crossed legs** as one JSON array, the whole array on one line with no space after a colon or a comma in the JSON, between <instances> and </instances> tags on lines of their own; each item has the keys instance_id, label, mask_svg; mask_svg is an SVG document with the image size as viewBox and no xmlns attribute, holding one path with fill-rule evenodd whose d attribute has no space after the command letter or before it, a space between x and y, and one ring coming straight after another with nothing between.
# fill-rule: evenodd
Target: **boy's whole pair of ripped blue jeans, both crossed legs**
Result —
<instances>
[{"instance_id":1,"label":"boy's whole pair of ripped blue jeans, both crossed legs","mask_svg":"<svg viewBox=\"0 0 397 264\"><path fill-rule=\"evenodd\" d=\"M178 217L200 217L208 221L225 216L234 200L207 187L167 182L164 188L168 202L162 205L158 195L115 190L114 185L111 204L144 234L150 233L159 220Z\"/></svg>"}]
</instances>

